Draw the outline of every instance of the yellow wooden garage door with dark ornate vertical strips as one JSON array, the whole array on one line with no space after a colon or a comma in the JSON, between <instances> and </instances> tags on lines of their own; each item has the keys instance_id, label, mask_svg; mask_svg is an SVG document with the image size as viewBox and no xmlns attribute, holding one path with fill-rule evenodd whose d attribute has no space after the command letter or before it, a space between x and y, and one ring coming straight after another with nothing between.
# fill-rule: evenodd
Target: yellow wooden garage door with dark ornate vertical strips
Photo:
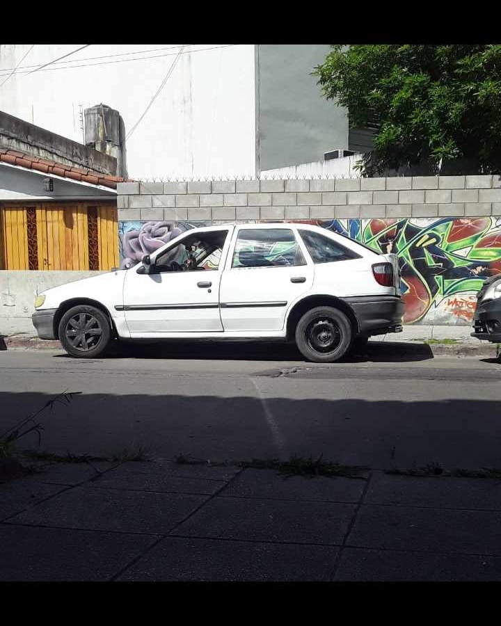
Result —
<instances>
[{"instance_id":1,"label":"yellow wooden garage door with dark ornate vertical strips","mask_svg":"<svg viewBox=\"0 0 501 626\"><path fill-rule=\"evenodd\" d=\"M106 271L119 264L115 207L45 204L0 211L5 269Z\"/></svg>"}]
</instances>

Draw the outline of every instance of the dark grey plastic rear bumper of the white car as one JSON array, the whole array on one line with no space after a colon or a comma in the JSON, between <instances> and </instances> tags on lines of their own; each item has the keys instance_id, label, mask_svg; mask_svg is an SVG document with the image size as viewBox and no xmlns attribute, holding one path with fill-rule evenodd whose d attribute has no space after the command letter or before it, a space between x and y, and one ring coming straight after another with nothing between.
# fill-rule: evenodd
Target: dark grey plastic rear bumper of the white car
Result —
<instances>
[{"instance_id":1,"label":"dark grey plastic rear bumper of the white car","mask_svg":"<svg viewBox=\"0 0 501 626\"><path fill-rule=\"evenodd\" d=\"M357 296L343 300L356 314L360 334L383 335L386 332L401 332L404 302L398 296Z\"/></svg>"}]
</instances>

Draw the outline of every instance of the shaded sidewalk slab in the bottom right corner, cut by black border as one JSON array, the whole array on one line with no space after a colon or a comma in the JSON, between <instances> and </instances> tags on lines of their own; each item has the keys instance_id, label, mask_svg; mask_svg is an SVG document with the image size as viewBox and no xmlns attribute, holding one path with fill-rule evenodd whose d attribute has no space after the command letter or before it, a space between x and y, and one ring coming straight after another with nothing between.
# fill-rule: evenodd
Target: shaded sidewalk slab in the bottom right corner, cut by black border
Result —
<instances>
[{"instance_id":1,"label":"shaded sidewalk slab in the bottom right corner, cut by black border","mask_svg":"<svg viewBox=\"0 0 501 626\"><path fill-rule=\"evenodd\" d=\"M488 581L501 580L496 556L424 554L344 548L335 581Z\"/></svg>"}]
</instances>

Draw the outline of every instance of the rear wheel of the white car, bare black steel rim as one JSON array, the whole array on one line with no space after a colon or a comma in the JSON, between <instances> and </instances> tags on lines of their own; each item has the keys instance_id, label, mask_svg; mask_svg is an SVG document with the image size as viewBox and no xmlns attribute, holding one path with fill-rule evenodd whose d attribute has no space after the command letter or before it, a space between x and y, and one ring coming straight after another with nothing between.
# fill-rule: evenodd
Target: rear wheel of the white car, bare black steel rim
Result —
<instances>
[{"instance_id":1,"label":"rear wheel of the white car, bare black steel rim","mask_svg":"<svg viewBox=\"0 0 501 626\"><path fill-rule=\"evenodd\" d=\"M339 309L315 307L301 317L295 336L303 357L314 363L333 363L349 351L353 331Z\"/></svg>"}]
</instances>

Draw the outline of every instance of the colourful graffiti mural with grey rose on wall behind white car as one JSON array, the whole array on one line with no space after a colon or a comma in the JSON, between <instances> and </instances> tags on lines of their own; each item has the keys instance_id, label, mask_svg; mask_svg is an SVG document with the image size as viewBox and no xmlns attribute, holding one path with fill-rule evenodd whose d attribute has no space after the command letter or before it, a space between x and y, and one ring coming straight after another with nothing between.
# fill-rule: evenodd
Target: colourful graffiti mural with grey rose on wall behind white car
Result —
<instances>
[{"instance_id":1,"label":"colourful graffiti mural with grey rose on wall behind white car","mask_svg":"<svg viewBox=\"0 0 501 626\"><path fill-rule=\"evenodd\" d=\"M255 220L249 220L255 223ZM501 219L308 220L398 255L404 323L469 326L485 278L501 273ZM120 222L121 266L135 264L193 227L216 222Z\"/></svg>"}]
</instances>

